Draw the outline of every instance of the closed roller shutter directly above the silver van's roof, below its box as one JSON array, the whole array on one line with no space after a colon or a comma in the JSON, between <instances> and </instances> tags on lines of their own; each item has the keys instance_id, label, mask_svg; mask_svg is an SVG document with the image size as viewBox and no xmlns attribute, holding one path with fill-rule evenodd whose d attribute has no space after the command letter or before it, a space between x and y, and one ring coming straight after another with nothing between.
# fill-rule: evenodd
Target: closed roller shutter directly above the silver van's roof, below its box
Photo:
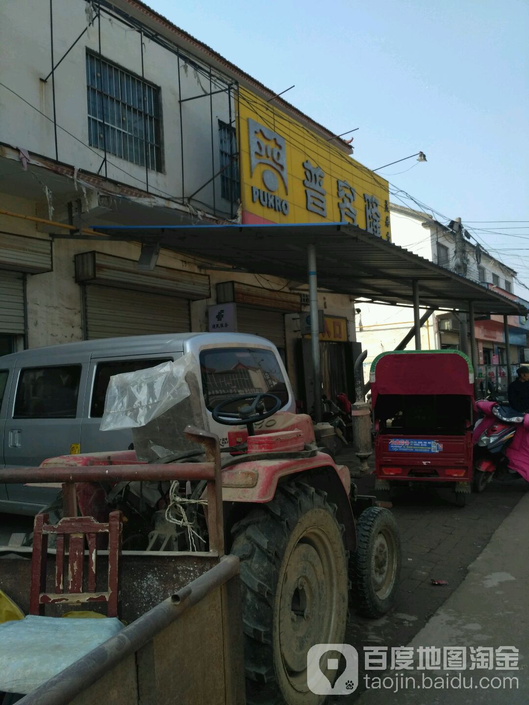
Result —
<instances>
[{"instance_id":1,"label":"closed roller shutter directly above the silver van's roof, below its box","mask_svg":"<svg viewBox=\"0 0 529 705\"><path fill-rule=\"evenodd\" d=\"M190 331L189 302L144 291L85 287L87 340Z\"/></svg>"}]
</instances>

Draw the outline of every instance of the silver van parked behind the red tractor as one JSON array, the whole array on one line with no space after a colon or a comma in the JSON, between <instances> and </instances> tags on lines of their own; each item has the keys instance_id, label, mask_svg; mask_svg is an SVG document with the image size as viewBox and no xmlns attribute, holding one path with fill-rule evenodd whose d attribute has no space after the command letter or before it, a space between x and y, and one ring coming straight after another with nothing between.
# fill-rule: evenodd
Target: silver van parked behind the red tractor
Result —
<instances>
[{"instance_id":1,"label":"silver van parked behind the red tractor","mask_svg":"<svg viewBox=\"0 0 529 705\"><path fill-rule=\"evenodd\" d=\"M209 429L221 445L228 442L228 427L214 422L211 410L225 399L271 392L283 402L281 410L296 411L275 345L244 333L103 338L23 350L0 357L0 467L35 466L69 453L126 450L130 430L99 430L110 377L188 352L200 360ZM56 490L0 484L0 512L35 514L55 496Z\"/></svg>"}]
</instances>

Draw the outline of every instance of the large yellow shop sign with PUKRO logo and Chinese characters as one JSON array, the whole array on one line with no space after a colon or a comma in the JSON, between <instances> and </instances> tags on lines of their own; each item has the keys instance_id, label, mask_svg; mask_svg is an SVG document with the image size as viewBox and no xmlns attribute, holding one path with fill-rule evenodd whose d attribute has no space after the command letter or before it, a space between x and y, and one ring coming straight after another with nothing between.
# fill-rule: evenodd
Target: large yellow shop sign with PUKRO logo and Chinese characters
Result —
<instances>
[{"instance_id":1,"label":"large yellow shop sign with PUKRO logo and Chinese characters","mask_svg":"<svg viewBox=\"0 0 529 705\"><path fill-rule=\"evenodd\" d=\"M239 87L243 223L350 223L391 240L385 179Z\"/></svg>"}]
</instances>

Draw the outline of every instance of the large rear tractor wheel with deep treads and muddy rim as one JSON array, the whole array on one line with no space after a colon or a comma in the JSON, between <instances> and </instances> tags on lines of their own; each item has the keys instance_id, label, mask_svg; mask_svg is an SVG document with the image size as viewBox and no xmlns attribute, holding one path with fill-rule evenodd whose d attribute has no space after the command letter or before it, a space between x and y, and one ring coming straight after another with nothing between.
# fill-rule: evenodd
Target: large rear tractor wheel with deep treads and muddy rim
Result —
<instances>
[{"instance_id":1,"label":"large rear tractor wheel with deep treads and muddy rim","mask_svg":"<svg viewBox=\"0 0 529 705\"><path fill-rule=\"evenodd\" d=\"M241 560L248 705L320 705L307 685L314 644L341 644L348 607L343 525L327 494L303 482L232 529ZM337 654L339 656L339 654ZM336 673L323 670L332 682Z\"/></svg>"}]
</instances>

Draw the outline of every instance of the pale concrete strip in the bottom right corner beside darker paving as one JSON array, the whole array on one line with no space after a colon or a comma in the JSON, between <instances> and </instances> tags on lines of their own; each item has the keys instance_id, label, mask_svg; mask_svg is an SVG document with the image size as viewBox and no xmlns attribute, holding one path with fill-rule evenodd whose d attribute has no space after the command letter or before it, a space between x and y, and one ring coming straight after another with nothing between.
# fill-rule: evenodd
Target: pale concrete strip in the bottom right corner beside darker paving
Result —
<instances>
[{"instance_id":1,"label":"pale concrete strip in the bottom right corner beside darker paving","mask_svg":"<svg viewBox=\"0 0 529 705\"><path fill-rule=\"evenodd\" d=\"M439 590L442 590L439 587ZM409 646L415 647L415 666L418 665L418 646L514 646L520 658L518 670L466 670L461 671L459 687L446 687L446 676L458 676L456 670L370 670L370 678L391 677L399 689L389 687L371 689L358 699L359 705L526 705L529 703L529 494L502 522L486 548L470 565L468 575L449 599L437 610L425 627L418 632ZM391 649L389 649L391 651ZM363 658L362 654L359 654ZM470 661L470 656L467 656ZM388 657L389 666L389 657ZM427 678L442 677L443 689L418 688L423 675ZM413 676L415 689L405 687L401 678ZM506 680L504 681L504 678ZM509 678L513 677L513 680ZM473 679L471 688L470 678ZM482 687L480 678L492 681L492 686ZM518 678L518 687L514 679ZM387 681L389 685L389 681ZM411 683L411 680L408 681ZM426 681L429 683L429 681ZM437 683L440 685L439 680ZM512 685L509 685L511 683ZM401 685L404 689L401 690ZM361 687L361 685L360 685Z\"/></svg>"}]
</instances>

